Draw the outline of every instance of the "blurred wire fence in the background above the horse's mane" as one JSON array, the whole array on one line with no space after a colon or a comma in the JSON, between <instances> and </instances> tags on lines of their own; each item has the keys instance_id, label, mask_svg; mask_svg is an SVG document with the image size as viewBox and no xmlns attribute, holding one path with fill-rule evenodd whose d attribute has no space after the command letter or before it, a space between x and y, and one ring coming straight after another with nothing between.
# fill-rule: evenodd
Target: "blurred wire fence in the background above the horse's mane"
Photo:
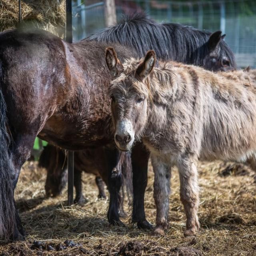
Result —
<instances>
[{"instance_id":1,"label":"blurred wire fence in the background above the horse's mane","mask_svg":"<svg viewBox=\"0 0 256 256\"><path fill-rule=\"evenodd\" d=\"M182 23L226 33L226 42L239 67L256 67L256 1L116 0L118 20L125 14L146 12L158 22ZM74 41L105 27L104 2L73 0Z\"/></svg>"}]
</instances>

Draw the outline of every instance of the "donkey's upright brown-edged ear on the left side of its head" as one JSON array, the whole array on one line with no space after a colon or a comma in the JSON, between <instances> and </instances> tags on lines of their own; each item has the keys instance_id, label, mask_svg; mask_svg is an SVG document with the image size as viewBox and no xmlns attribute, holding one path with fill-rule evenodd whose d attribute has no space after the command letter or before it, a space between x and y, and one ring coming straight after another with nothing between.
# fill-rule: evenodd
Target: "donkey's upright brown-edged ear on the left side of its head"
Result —
<instances>
[{"instance_id":1,"label":"donkey's upright brown-edged ear on the left side of its head","mask_svg":"<svg viewBox=\"0 0 256 256\"><path fill-rule=\"evenodd\" d=\"M123 65L120 62L120 60L118 60L116 51L114 50L114 48L112 47L106 48L105 58L106 58L106 63L107 63L108 69L110 70L111 76L112 77L118 76L118 74L120 74L123 70Z\"/></svg>"}]
</instances>

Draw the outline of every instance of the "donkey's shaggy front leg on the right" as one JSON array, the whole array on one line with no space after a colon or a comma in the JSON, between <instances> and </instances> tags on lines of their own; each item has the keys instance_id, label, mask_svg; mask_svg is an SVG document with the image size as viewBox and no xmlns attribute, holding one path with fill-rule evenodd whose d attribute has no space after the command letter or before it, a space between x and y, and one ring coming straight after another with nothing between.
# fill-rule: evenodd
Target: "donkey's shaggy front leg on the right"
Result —
<instances>
[{"instance_id":1,"label":"donkey's shaggy front leg on the right","mask_svg":"<svg viewBox=\"0 0 256 256\"><path fill-rule=\"evenodd\" d=\"M198 222L199 187L198 172L193 158L183 158L178 162L180 174L180 199L186 214L186 231L184 236L194 235L200 224Z\"/></svg>"}]
</instances>

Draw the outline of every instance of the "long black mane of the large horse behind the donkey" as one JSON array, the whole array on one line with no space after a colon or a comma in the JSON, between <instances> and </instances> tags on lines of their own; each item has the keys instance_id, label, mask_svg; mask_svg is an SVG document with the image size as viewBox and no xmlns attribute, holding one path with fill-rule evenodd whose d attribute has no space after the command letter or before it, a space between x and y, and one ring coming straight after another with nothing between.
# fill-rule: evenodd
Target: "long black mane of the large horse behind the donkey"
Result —
<instances>
[{"instance_id":1,"label":"long black mane of the large horse behind the donkey","mask_svg":"<svg viewBox=\"0 0 256 256\"><path fill-rule=\"evenodd\" d=\"M160 24L146 14L139 13L126 16L117 25L96 32L85 40L130 46L140 58L148 50L154 50L161 60L204 66L203 60L208 51L206 42L210 34L182 24ZM220 49L230 59L231 66L236 67L234 54L224 40L220 40Z\"/></svg>"}]
</instances>

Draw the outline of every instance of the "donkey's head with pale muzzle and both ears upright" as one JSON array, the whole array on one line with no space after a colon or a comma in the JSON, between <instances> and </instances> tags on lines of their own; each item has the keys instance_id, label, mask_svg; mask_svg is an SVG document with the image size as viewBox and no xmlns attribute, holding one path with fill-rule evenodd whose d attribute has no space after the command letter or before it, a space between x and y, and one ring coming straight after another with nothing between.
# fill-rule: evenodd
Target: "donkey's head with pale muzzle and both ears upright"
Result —
<instances>
[{"instance_id":1,"label":"donkey's head with pale muzzle and both ears upright","mask_svg":"<svg viewBox=\"0 0 256 256\"><path fill-rule=\"evenodd\" d=\"M147 77L155 64L155 53L149 51L143 61L133 60L124 66L113 48L106 48L106 63L112 74L110 87L112 118L115 126L115 142L122 151L132 147L135 138L142 133L150 96Z\"/></svg>"}]
</instances>

